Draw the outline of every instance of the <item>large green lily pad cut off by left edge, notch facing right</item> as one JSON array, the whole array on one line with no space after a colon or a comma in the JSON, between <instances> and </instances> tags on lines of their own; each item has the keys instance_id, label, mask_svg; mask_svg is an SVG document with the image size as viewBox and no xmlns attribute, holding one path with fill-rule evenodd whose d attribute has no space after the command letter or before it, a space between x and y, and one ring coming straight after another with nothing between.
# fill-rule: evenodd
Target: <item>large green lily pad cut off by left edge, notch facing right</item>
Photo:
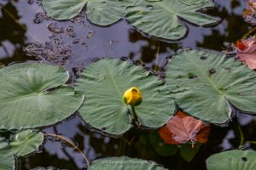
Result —
<instances>
[{"instance_id":1,"label":"large green lily pad cut off by left edge, notch facing right","mask_svg":"<svg viewBox=\"0 0 256 170\"><path fill-rule=\"evenodd\" d=\"M64 85L68 78L67 71L54 65L0 69L0 129L47 126L73 114L84 97Z\"/></svg>"}]
</instances>

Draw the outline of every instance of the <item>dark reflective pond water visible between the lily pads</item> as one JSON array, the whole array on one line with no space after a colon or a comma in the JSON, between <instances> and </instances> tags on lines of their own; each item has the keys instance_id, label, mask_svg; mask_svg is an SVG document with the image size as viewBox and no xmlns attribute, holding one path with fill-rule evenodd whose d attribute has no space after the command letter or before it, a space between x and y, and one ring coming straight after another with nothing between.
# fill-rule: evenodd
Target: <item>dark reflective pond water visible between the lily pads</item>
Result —
<instances>
[{"instance_id":1,"label":"dark reflective pond water visible between the lily pads","mask_svg":"<svg viewBox=\"0 0 256 170\"><path fill-rule=\"evenodd\" d=\"M71 21L49 19L39 0L0 0L0 63L48 62L64 65L75 82L79 72L102 57L131 59L148 69L161 71L167 58L181 48L225 49L224 42L236 42L253 27L242 19L245 0L218 0L217 8L207 13L221 22L214 27L186 23L189 33L179 42L160 42L144 37L125 20L113 26L91 25L81 14ZM131 129L122 138L110 138L95 132L75 113L67 120L44 128L72 139L90 161L104 156L131 156L156 161L168 169L206 169L205 160L213 153L235 149L240 137L237 122L246 140L256 140L256 117L241 114L226 127L212 127L209 142L201 146L193 161L175 156L159 156L148 142L148 131ZM245 144L256 150L256 144ZM57 167L81 169L83 156L61 142L46 140L37 153L20 157L17 169Z\"/></svg>"}]
</instances>

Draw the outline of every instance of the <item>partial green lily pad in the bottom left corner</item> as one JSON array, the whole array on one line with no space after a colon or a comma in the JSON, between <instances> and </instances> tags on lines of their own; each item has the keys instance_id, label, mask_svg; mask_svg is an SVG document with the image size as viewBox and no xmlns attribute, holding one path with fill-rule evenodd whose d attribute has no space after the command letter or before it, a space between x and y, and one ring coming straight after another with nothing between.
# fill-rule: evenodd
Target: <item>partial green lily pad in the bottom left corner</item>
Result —
<instances>
[{"instance_id":1,"label":"partial green lily pad in the bottom left corner","mask_svg":"<svg viewBox=\"0 0 256 170\"><path fill-rule=\"evenodd\" d=\"M2 138L0 138L0 169L15 169L15 156L9 145Z\"/></svg>"}]
</instances>

